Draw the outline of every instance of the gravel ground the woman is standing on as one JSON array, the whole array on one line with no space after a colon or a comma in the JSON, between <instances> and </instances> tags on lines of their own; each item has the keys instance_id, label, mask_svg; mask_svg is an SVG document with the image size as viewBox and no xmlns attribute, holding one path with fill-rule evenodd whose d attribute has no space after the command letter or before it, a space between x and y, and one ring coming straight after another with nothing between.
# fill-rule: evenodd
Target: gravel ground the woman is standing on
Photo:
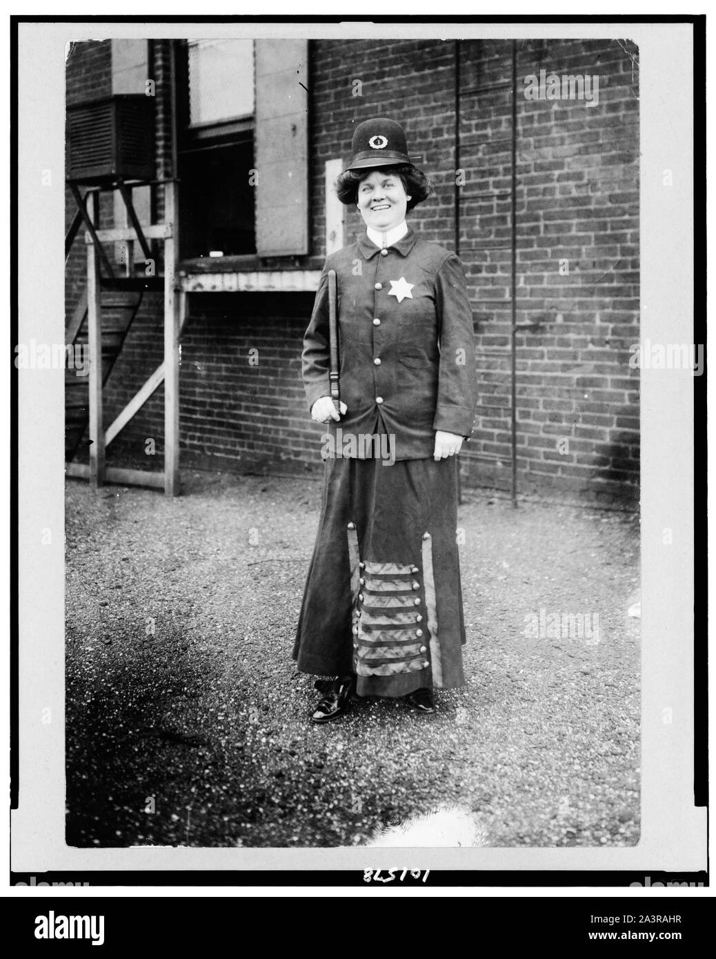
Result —
<instances>
[{"instance_id":1,"label":"gravel ground the woman is standing on","mask_svg":"<svg viewBox=\"0 0 716 959\"><path fill-rule=\"evenodd\" d=\"M366 699L315 727L290 652L318 480L66 491L70 845L350 846L434 809L473 823L454 844L638 841L633 514L467 491L467 686L433 716Z\"/></svg>"}]
</instances>

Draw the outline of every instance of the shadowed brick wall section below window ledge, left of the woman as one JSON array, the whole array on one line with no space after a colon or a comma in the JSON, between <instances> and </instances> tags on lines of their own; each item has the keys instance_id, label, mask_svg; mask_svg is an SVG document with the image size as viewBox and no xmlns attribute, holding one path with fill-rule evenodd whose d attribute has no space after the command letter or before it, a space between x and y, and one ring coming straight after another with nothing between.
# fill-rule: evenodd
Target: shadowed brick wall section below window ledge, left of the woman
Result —
<instances>
[{"instance_id":1,"label":"shadowed brick wall section below window ledge, left of the woman","mask_svg":"<svg viewBox=\"0 0 716 959\"><path fill-rule=\"evenodd\" d=\"M301 384L301 341L312 293L192 293L181 338L182 460L198 468L303 472L320 467L322 428ZM161 297L149 294L107 390L107 423L162 362ZM107 462L161 469L163 390L119 434ZM147 440L155 454L147 455Z\"/></svg>"}]
</instances>

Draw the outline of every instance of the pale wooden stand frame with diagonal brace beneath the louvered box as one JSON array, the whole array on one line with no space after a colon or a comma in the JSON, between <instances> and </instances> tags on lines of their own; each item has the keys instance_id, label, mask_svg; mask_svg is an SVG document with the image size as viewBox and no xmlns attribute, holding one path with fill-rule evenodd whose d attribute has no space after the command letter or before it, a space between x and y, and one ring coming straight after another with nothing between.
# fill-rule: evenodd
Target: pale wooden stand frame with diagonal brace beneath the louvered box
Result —
<instances>
[{"instance_id":1,"label":"pale wooden stand frame with diagonal brace beneath the louvered box","mask_svg":"<svg viewBox=\"0 0 716 959\"><path fill-rule=\"evenodd\" d=\"M164 489L167 496L178 496L180 492L179 473L179 334L186 318L186 293L177 288L176 263L178 259L178 182L175 179L162 181L164 186L165 219L162 223L143 227L134 211L131 192L127 184L117 183L127 206L131 226L119 229L102 230L97 228L100 222L100 194L98 190L89 190L84 199L74 184L70 184L78 202L79 216L87 225L84 242L87 247L87 339L89 348L89 464L68 462L65 475L89 479L90 485L97 489L105 482L127 485L150 486ZM92 212L87 210L86 201L91 199ZM151 373L150 378L127 403L125 409L109 427L104 429L103 383L102 383L102 278L100 265L105 269L108 259L103 243L120 241L138 241L147 255L150 247L148 240L164 243L164 362ZM149 258L149 257L148 257ZM111 265L109 266L112 275ZM82 309L81 309L82 306ZM81 312L80 312L81 311ZM83 304L78 304L71 321L70 332L74 337L81 327L84 314ZM78 316L80 321L78 323ZM129 420L142 409L152 393L160 384L164 384L164 471L119 469L106 466L104 452L106 447L126 426Z\"/></svg>"}]
</instances>

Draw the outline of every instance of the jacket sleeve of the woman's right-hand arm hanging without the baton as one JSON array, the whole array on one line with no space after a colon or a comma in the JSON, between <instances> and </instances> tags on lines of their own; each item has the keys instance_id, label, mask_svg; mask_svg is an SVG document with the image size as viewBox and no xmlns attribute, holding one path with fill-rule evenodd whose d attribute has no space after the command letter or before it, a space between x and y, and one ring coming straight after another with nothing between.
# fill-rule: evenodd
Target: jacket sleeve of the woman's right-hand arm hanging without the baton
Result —
<instances>
[{"instance_id":1,"label":"jacket sleeve of the woman's right-hand arm hanging without the baton","mask_svg":"<svg viewBox=\"0 0 716 959\"><path fill-rule=\"evenodd\" d=\"M440 370L432 428L469 437L477 403L473 311L465 271L454 253L437 272L435 307L440 331Z\"/></svg>"}]
</instances>

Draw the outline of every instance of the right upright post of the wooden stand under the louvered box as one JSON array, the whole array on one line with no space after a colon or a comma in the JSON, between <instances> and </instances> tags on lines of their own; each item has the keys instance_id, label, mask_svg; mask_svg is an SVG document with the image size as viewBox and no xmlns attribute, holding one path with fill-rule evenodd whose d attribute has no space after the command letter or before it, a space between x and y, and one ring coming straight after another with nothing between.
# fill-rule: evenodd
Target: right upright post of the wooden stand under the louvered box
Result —
<instances>
[{"instance_id":1,"label":"right upright post of the wooden stand under the louvered box","mask_svg":"<svg viewBox=\"0 0 716 959\"><path fill-rule=\"evenodd\" d=\"M164 219L172 225L172 236L164 243L164 491L179 495L179 323L185 295L176 289L176 261L179 235L178 183L164 185Z\"/></svg>"}]
</instances>

